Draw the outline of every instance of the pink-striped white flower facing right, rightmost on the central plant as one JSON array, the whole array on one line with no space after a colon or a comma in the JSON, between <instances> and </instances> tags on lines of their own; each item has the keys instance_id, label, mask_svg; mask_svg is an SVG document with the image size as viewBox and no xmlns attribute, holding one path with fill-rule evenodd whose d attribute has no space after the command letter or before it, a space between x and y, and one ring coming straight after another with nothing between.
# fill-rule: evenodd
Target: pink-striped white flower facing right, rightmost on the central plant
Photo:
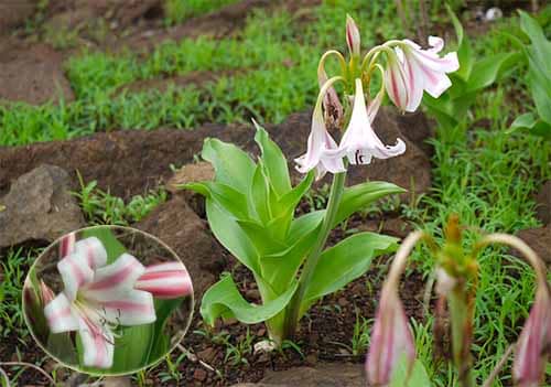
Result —
<instances>
[{"instance_id":1,"label":"pink-striped white flower facing right, rightmost on the central plant","mask_svg":"<svg viewBox=\"0 0 551 387\"><path fill-rule=\"evenodd\" d=\"M388 55L385 72L385 86L392 103L404 111L415 111L426 90L437 98L452 82L447 73L460 68L457 53L451 52L444 56L439 53L444 47L444 41L437 36L429 36L428 50L408 39L395 47L395 54Z\"/></svg>"}]
</instances>

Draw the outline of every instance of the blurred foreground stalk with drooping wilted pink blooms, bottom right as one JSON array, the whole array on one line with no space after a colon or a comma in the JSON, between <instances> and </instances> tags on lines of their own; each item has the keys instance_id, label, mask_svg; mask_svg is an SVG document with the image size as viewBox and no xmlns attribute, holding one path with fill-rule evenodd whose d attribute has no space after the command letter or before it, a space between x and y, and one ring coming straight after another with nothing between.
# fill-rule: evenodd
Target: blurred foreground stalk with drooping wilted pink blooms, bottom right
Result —
<instances>
[{"instance_id":1,"label":"blurred foreground stalk with drooping wilted pink blooms, bottom right","mask_svg":"<svg viewBox=\"0 0 551 387\"><path fill-rule=\"evenodd\" d=\"M430 234L419 230L411 233L403 240L382 286L371 331L370 347L366 358L368 386L429 387L433 385L421 363L415 359L413 335L398 294L400 276L406 269L408 257L414 246L421 241L429 245L434 258L437 294L434 335L445 335L446 326L450 326L451 351L447 348L440 348L440 351L451 353L450 357L456 369L454 376L456 384L453 385L460 387L478 385L474 377L471 356L474 305L479 277L477 256L486 246L498 244L515 248L527 260L536 273L536 300L517 343L505 352L503 359L498 362L482 386L493 385L512 352L515 352L512 363L515 386L543 386L545 366L551 355L551 291L547 280L545 264L516 236L482 235L471 249L466 249L463 234L464 229L460 226L457 216L452 215L444 232L445 241L442 247L437 247ZM428 289L431 288L432 286ZM446 320L450 324L445 323ZM450 380L449 385L452 383Z\"/></svg>"}]
</instances>

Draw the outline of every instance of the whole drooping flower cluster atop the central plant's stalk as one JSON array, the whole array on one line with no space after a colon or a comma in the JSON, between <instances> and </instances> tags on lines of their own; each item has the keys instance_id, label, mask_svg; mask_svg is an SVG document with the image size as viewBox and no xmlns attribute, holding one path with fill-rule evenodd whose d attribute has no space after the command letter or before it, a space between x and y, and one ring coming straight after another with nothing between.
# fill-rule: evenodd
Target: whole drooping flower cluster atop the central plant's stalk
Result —
<instances>
[{"instance_id":1,"label":"whole drooping flower cluster atop the central plant's stalk","mask_svg":"<svg viewBox=\"0 0 551 387\"><path fill-rule=\"evenodd\" d=\"M406 144L402 140L398 139L395 146L386 146L372 128L385 94L401 111L415 111L421 104L423 90L439 97L451 86L446 73L458 68L456 53L442 57L439 55L444 42L435 36L429 37L429 50L421 49L410 40L389 41L374 47L360 60L359 31L354 20L348 17L346 41L350 52L348 63L337 51L328 51L320 62L317 75L321 90L312 117L307 150L295 160L301 173L315 169L317 179L323 178L326 172L344 172L347 162L369 164L372 158L388 159L403 153ZM342 74L332 78L327 77L324 67L325 60L329 56L336 56L342 68ZM382 56L386 58L383 65L379 63ZM380 73L382 82L379 92L371 98L368 92L375 72ZM338 82L344 84L346 98L343 100L353 107L337 144L327 131L326 117L331 112L343 115L343 104L334 88ZM353 93L347 94L346 90ZM337 117L336 120L343 118Z\"/></svg>"}]
</instances>

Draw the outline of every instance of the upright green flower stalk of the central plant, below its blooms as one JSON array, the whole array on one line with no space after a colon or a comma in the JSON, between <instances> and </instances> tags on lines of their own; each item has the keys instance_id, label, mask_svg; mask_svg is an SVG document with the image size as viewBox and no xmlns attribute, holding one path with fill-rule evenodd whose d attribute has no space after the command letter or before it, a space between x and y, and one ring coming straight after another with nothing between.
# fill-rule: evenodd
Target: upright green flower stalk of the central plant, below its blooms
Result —
<instances>
[{"instance_id":1,"label":"upright green flower stalk of the central plant, below its blooms","mask_svg":"<svg viewBox=\"0 0 551 387\"><path fill-rule=\"evenodd\" d=\"M332 225L335 222L335 217L337 215L337 209L341 204L341 200L343 197L344 185L346 181L346 172L336 173L333 176L333 183L331 185L329 201L327 203L327 208L325 208L325 217L323 219L322 229L317 235L317 240L312 248L312 251L306 257L304 262L304 267L301 272L301 277L299 279L299 288L294 293L291 302L287 308L287 319L283 327L283 337L289 338L292 337L294 332L296 331L296 325L299 324L299 320L301 319L300 310L302 301L304 300L304 295L306 292L307 284L312 280L312 276L314 275L314 269L317 266L317 261L320 260L320 256L322 255L323 247L327 241L327 237L332 230Z\"/></svg>"}]
</instances>

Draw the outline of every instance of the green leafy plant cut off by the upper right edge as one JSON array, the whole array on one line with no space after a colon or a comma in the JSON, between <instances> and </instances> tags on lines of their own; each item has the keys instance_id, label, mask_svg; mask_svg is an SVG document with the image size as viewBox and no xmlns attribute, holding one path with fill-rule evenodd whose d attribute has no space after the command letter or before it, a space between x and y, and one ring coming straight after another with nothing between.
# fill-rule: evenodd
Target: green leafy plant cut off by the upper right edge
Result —
<instances>
[{"instance_id":1,"label":"green leafy plant cut off by the upper right edge","mask_svg":"<svg viewBox=\"0 0 551 387\"><path fill-rule=\"evenodd\" d=\"M526 129L531 135L551 140L551 42L534 19L526 12L519 13L520 28L531 42L530 45L520 45L528 61L527 82L536 111L517 117L511 129Z\"/></svg>"}]
</instances>

